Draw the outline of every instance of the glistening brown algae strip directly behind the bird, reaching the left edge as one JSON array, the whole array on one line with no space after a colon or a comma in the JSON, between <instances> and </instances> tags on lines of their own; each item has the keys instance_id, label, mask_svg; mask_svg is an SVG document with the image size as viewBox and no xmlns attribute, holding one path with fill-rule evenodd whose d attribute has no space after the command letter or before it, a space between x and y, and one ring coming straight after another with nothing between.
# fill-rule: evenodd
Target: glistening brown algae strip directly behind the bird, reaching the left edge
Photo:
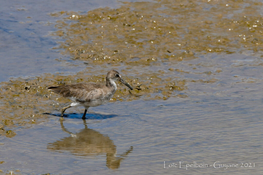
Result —
<instances>
[{"instance_id":1,"label":"glistening brown algae strip directly behind the bird, reaching the left edge","mask_svg":"<svg viewBox=\"0 0 263 175\"><path fill-rule=\"evenodd\" d=\"M107 72L105 72L107 73ZM13 78L8 82L1 83L1 103L0 109L2 116L0 116L0 135L7 137L15 136L16 133L9 128L14 127L28 127L31 124L37 124L48 119L48 113L61 110L65 103L69 103L68 99L60 97L53 92L46 89L47 85L59 86L62 84L70 84L77 82L94 82L105 83L105 74L102 75L87 75L83 72L78 72L76 75L61 75L60 73L45 74L41 77L32 78ZM148 75L150 77L150 75ZM139 98L166 98L175 96L172 91L177 91L178 88L169 89L176 84L167 85L163 87L162 83L156 85L155 81L165 81L157 76L141 81L138 78L132 79L122 76L131 86L134 91L128 90L122 83L117 83L118 90L110 101L129 101ZM178 82L181 84L180 82ZM154 88L152 88L154 86ZM180 90L184 88L184 83L180 85Z\"/></svg>"}]
</instances>

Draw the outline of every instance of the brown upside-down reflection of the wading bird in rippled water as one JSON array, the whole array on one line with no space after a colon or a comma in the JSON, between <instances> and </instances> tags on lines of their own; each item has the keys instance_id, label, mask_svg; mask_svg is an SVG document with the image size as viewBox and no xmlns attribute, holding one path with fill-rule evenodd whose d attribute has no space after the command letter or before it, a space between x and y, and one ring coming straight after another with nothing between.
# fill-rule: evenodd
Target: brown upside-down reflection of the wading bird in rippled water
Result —
<instances>
[{"instance_id":1,"label":"brown upside-down reflection of the wading bird in rippled water","mask_svg":"<svg viewBox=\"0 0 263 175\"><path fill-rule=\"evenodd\" d=\"M74 134L64 127L63 120L61 120L60 125L62 130L69 133L70 136L49 143L47 149L58 152L69 151L75 156L90 157L106 154L106 166L111 169L119 168L120 162L124 157L128 157L133 147L131 146L129 150L117 156L117 148L108 136L100 134L93 129L89 129L85 119L83 119L83 124L85 126L84 129Z\"/></svg>"}]
</instances>

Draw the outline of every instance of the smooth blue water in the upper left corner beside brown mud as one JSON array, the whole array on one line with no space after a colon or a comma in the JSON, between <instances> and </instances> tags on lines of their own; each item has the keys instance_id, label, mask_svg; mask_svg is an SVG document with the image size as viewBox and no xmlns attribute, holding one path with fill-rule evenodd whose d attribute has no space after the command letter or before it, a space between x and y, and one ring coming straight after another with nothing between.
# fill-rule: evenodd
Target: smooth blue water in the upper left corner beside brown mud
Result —
<instances>
[{"instance_id":1,"label":"smooth blue water in the upper left corner beside brown mud","mask_svg":"<svg viewBox=\"0 0 263 175\"><path fill-rule=\"evenodd\" d=\"M49 35L55 31L57 18L49 14L57 11L87 12L98 7L116 7L115 1L4 1L0 14L0 81L9 77L36 76L46 72L81 71L83 63L61 64L62 56L55 47L56 40ZM50 66L51 65L51 66ZM83 65L83 66L82 66Z\"/></svg>"}]
</instances>

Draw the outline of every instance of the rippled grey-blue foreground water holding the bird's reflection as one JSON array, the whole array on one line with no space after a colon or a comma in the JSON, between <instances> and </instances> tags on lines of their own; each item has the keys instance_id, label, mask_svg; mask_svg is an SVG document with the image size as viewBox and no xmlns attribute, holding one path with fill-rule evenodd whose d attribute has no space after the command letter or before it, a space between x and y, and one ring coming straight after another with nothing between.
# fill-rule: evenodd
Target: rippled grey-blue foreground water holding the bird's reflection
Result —
<instances>
[{"instance_id":1,"label":"rippled grey-blue foreground water holding the bird's reflection","mask_svg":"<svg viewBox=\"0 0 263 175\"><path fill-rule=\"evenodd\" d=\"M244 102L199 95L109 103L92 108L85 122L81 112L62 123L50 116L30 129L17 129L12 141L2 137L2 167L24 174L260 174L262 109L255 107L260 103L255 97ZM212 167L164 169L164 161ZM239 167L215 169L216 161ZM240 163L255 163L255 168Z\"/></svg>"}]
</instances>

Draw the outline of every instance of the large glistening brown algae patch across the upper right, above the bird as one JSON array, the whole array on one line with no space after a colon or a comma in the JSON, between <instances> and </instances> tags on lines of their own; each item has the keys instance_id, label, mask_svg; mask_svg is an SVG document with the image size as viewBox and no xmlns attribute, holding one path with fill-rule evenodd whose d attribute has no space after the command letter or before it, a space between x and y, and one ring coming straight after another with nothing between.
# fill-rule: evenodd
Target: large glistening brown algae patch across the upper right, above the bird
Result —
<instances>
[{"instance_id":1,"label":"large glistening brown algae patch across the upper right, above the bird","mask_svg":"<svg viewBox=\"0 0 263 175\"><path fill-rule=\"evenodd\" d=\"M200 54L263 51L261 2L170 1L124 3L87 14L64 14L53 35L62 54L92 64L180 61ZM196 55L198 54L198 55ZM142 59L143 58L143 59Z\"/></svg>"}]
</instances>

